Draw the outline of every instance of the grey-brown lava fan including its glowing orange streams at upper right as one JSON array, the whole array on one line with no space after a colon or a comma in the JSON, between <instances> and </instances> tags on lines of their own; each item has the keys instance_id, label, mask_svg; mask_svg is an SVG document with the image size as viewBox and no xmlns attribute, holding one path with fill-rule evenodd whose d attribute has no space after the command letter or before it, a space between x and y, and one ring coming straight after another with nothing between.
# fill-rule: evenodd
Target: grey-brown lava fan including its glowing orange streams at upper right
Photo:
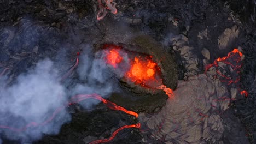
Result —
<instances>
[{"instance_id":1,"label":"grey-brown lava fan including its glowing orange streams at upper right","mask_svg":"<svg viewBox=\"0 0 256 144\"><path fill-rule=\"evenodd\" d=\"M220 137L225 136L223 131L226 127L237 126L233 124L236 120L231 118L230 123L223 122L225 116L230 116L223 115L229 109L230 101L236 100L237 92L245 97L248 95L239 88L242 58L242 53L234 49L227 56L217 58L213 64L208 65L205 74L190 76L188 81L179 80L177 89L170 91L171 94L175 93L176 99L167 99L162 110L154 115L139 115L139 122L143 128L148 129L142 135L148 136L149 140L153 138L163 142L221 141ZM158 88L168 92L164 85ZM195 134L195 131L200 131L200 134Z\"/></svg>"}]
</instances>

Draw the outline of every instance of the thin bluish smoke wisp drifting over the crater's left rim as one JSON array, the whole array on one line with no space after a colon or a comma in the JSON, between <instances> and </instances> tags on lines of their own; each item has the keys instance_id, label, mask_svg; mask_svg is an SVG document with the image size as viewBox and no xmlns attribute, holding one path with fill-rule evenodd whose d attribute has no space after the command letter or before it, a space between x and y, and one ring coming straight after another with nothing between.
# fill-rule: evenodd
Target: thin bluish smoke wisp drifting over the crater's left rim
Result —
<instances>
[{"instance_id":1,"label":"thin bluish smoke wisp drifting over the crater's left rim","mask_svg":"<svg viewBox=\"0 0 256 144\"><path fill-rule=\"evenodd\" d=\"M113 92L113 74L109 71L104 59L97 57L98 55L102 55L102 51L94 55L90 52L90 47L86 46L86 52L79 57L80 64L77 70L79 79L83 80L83 83L78 83L70 95L97 93L107 97ZM88 109L98 103L100 103L98 100L86 99L81 105Z\"/></svg>"}]
</instances>

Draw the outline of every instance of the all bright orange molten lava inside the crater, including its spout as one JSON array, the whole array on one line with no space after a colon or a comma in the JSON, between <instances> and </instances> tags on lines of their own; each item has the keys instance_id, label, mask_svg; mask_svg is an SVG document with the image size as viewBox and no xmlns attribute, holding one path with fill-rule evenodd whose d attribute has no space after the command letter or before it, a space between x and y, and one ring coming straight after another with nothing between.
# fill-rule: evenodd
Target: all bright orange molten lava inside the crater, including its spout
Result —
<instances>
[{"instance_id":1,"label":"all bright orange molten lava inside the crater, including its spout","mask_svg":"<svg viewBox=\"0 0 256 144\"><path fill-rule=\"evenodd\" d=\"M106 63L116 69L124 59L124 54L120 53L120 46L104 45L104 49L107 49L105 57ZM126 54L127 53L125 53L125 55ZM173 91L162 83L162 79L160 78L161 69L152 58L153 56L135 56L130 58L129 64L126 65L129 69L125 72L124 77L127 81L141 85L142 87L162 89L168 97L172 98Z\"/></svg>"}]
</instances>

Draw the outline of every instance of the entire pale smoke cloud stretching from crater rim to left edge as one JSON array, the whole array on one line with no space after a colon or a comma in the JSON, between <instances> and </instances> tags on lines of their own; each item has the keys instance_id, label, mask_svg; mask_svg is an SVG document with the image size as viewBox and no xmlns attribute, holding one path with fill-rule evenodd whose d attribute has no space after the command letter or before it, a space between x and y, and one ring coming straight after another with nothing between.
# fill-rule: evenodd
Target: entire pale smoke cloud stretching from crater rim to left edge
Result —
<instances>
[{"instance_id":1,"label":"entire pale smoke cloud stretching from crater rim to left edge","mask_svg":"<svg viewBox=\"0 0 256 144\"><path fill-rule=\"evenodd\" d=\"M15 84L0 88L0 137L29 142L41 139L44 134L57 134L62 124L71 121L71 115L65 109L49 123L40 124L51 118L56 109L67 104L72 95L97 93L106 97L112 92L112 73L104 60L95 58L89 46L85 46L83 53L79 56L77 69L82 82L72 89L66 89L61 84L61 75L54 67L54 62L48 58L38 62L33 70L19 75ZM0 84L4 85L2 82ZM84 108L100 102L92 99L85 101L81 103ZM31 126L27 127L28 124Z\"/></svg>"}]
</instances>

